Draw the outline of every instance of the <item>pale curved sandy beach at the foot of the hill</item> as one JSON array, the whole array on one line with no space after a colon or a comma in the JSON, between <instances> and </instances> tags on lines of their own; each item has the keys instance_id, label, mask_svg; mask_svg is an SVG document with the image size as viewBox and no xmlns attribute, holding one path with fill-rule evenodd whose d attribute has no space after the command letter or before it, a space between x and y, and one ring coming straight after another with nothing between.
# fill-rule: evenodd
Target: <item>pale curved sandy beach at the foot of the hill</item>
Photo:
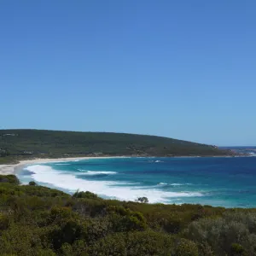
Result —
<instances>
[{"instance_id":1,"label":"pale curved sandy beach at the foot of the hill","mask_svg":"<svg viewBox=\"0 0 256 256\"><path fill-rule=\"evenodd\" d=\"M116 158L120 158L122 156L116 156ZM88 160L88 159L106 159L106 158L115 158L115 157L108 157L108 156L98 156L98 157L69 157L69 158L44 158L44 159L34 159L34 160L21 160L19 164L15 165L0 165L0 174L8 175L8 174L15 174L19 171L23 166L26 165L33 165L33 164L43 164L49 162L65 162L70 160Z\"/></svg>"}]
</instances>

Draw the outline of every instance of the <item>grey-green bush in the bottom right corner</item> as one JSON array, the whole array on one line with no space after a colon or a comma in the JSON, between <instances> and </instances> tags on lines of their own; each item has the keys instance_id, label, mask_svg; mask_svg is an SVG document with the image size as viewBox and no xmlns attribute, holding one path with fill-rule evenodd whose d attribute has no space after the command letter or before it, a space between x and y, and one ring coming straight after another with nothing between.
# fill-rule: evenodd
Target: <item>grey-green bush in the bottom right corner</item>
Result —
<instances>
[{"instance_id":1,"label":"grey-green bush in the bottom right corner","mask_svg":"<svg viewBox=\"0 0 256 256\"><path fill-rule=\"evenodd\" d=\"M189 224L184 236L198 244L207 242L213 253L220 256L233 255L238 247L248 255L256 255L255 217L255 212L229 212L222 218L203 218Z\"/></svg>"}]
</instances>

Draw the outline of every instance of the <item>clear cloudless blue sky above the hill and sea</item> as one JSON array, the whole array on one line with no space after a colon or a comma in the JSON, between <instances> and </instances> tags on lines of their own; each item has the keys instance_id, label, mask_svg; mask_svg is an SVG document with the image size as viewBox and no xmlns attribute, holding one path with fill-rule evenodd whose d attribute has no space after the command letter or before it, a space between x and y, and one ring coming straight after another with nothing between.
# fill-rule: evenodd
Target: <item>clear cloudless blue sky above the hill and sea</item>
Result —
<instances>
[{"instance_id":1,"label":"clear cloudless blue sky above the hill and sea","mask_svg":"<svg viewBox=\"0 0 256 256\"><path fill-rule=\"evenodd\" d=\"M256 1L0 2L0 129L256 145Z\"/></svg>"}]
</instances>

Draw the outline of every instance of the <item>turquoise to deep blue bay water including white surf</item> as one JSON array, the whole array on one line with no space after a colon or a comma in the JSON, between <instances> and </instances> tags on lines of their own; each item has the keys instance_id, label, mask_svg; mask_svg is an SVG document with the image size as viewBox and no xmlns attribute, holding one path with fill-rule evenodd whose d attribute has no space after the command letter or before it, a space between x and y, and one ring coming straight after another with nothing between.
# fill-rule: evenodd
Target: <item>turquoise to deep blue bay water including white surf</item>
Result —
<instances>
[{"instance_id":1,"label":"turquoise to deep blue bay water including white surf","mask_svg":"<svg viewBox=\"0 0 256 256\"><path fill-rule=\"evenodd\" d=\"M256 157L77 160L26 166L19 178L125 201L256 207Z\"/></svg>"}]
</instances>

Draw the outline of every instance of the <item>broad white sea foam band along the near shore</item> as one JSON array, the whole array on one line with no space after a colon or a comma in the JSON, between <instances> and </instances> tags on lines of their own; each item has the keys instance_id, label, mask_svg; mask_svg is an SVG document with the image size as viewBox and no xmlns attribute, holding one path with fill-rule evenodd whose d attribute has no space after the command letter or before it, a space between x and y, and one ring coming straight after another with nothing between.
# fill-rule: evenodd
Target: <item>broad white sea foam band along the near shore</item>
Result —
<instances>
[{"instance_id":1,"label":"broad white sea foam band along the near shore","mask_svg":"<svg viewBox=\"0 0 256 256\"><path fill-rule=\"evenodd\" d=\"M116 181L89 181L76 177L70 172L56 171L52 167L44 165L27 166L26 170L33 172L32 178L38 183L48 183L56 188L67 189L70 192L77 189L88 190L97 195L123 201L135 201L137 197L146 196L150 203L170 203L170 200L202 195L198 192L170 192L156 188L143 188L143 186L125 186L124 183Z\"/></svg>"}]
</instances>

